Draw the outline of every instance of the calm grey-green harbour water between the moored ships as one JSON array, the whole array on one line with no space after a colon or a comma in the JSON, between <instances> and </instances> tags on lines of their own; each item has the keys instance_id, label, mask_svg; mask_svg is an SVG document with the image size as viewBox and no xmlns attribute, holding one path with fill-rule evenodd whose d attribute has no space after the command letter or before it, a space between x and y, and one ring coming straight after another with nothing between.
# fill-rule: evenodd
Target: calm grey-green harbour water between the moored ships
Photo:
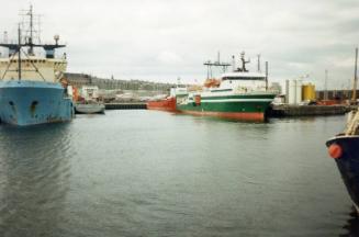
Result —
<instances>
[{"instance_id":1,"label":"calm grey-green harbour water between the moored ships","mask_svg":"<svg viewBox=\"0 0 359 237\"><path fill-rule=\"evenodd\" d=\"M2 125L0 236L346 236L358 221L324 145L344 120Z\"/></svg>"}]
</instances>

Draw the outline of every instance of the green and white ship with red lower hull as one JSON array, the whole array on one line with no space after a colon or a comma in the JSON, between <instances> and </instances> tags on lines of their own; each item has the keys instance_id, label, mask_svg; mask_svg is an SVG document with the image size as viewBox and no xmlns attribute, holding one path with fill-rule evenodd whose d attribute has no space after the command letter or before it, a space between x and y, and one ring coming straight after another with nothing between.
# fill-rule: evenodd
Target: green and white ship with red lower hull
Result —
<instances>
[{"instance_id":1,"label":"green and white ship with red lower hull","mask_svg":"<svg viewBox=\"0 0 359 237\"><path fill-rule=\"evenodd\" d=\"M243 121L265 121L276 93L268 91L266 74L248 72L240 55L242 68L225 72L221 79L207 80L201 91L177 95L177 110L193 115L210 115ZM207 65L207 64L205 64ZM211 64L211 66L229 66Z\"/></svg>"}]
</instances>

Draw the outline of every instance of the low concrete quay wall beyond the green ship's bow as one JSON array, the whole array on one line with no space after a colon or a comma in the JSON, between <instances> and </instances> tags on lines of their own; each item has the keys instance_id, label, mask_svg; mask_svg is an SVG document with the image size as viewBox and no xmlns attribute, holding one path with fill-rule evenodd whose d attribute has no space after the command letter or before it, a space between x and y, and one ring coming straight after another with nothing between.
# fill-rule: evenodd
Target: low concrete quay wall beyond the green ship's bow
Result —
<instances>
[{"instance_id":1,"label":"low concrete quay wall beyond the green ship's bow","mask_svg":"<svg viewBox=\"0 0 359 237\"><path fill-rule=\"evenodd\" d=\"M352 110L348 105L272 105L268 111L269 117L311 116L345 114Z\"/></svg>"}]
</instances>

